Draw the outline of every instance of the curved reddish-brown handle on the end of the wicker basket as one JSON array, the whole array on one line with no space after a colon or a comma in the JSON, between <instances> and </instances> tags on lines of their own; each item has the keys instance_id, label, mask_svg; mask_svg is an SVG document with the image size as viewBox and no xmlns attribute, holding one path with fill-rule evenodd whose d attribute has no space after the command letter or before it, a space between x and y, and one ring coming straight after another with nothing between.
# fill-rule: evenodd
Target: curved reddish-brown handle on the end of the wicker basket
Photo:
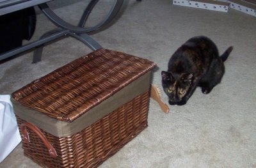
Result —
<instances>
[{"instance_id":1,"label":"curved reddish-brown handle on the end of the wicker basket","mask_svg":"<svg viewBox=\"0 0 256 168\"><path fill-rule=\"evenodd\" d=\"M37 128L37 126L33 125L32 123L22 123L20 125L20 130L21 130L21 133L22 133L22 137L24 137L24 141L30 142L29 141L29 134L26 130L26 126L28 126L28 128L30 128L33 132L35 132L38 135L38 137L40 137L40 139L44 142L46 148L48 149L49 154L51 155L51 157L56 158L58 155L57 155L55 149L52 147L52 145L49 143L49 141L47 141L46 137L41 132L41 130L39 128Z\"/></svg>"}]
</instances>

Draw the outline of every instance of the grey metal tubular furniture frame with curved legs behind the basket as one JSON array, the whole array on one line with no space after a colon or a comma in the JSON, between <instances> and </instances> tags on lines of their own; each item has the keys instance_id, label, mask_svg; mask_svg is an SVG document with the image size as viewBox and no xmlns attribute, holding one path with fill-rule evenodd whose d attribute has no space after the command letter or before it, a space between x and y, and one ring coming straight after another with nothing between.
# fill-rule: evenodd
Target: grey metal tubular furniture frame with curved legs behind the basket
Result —
<instances>
[{"instance_id":1,"label":"grey metal tubular furniture frame with curved legs behind the basket","mask_svg":"<svg viewBox=\"0 0 256 168\"><path fill-rule=\"evenodd\" d=\"M40 40L28 43L27 45L22 45L21 47L1 54L0 61L6 59L7 57L14 56L15 54L19 54L20 52L36 48L32 62L36 63L38 61L41 61L42 49L45 44L52 42L53 40L67 36L72 36L77 40L80 40L92 50L102 48L102 46L98 42L93 40L93 38L89 36L87 33L97 31L100 28L109 24L109 22L111 22L111 20L115 18L116 14L122 7L124 0L115 0L115 3L113 3L113 6L111 7L111 10L109 11L108 15L106 15L106 17L99 24L92 27L83 27L90 13L92 13L93 8L98 2L99 0L90 1L86 9L84 10L83 15L77 26L69 24L68 22L65 22L63 19L58 17L58 15L56 15L56 13L54 13L54 11L51 10L47 3L37 4L40 10L42 10L43 13L47 16L47 18L51 20L51 22L54 23L56 26L58 26L58 29L54 29L52 31L45 33L43 36L41 36Z\"/></svg>"}]
</instances>

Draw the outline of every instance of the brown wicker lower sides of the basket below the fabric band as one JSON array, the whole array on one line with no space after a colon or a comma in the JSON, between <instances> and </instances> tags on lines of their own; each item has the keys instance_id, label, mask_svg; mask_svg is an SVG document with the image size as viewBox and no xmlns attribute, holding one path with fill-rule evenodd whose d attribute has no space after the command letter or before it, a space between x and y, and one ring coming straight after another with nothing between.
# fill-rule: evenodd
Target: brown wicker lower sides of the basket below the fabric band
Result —
<instances>
[{"instance_id":1,"label":"brown wicker lower sides of the basket below the fabric band","mask_svg":"<svg viewBox=\"0 0 256 168\"><path fill-rule=\"evenodd\" d=\"M41 130L56 150L56 158L49 155L42 140L29 128L30 142L22 141L22 148L42 167L97 167L146 128L148 101L147 91L72 136L55 137ZM17 122L20 128L26 121L17 116Z\"/></svg>"}]
</instances>

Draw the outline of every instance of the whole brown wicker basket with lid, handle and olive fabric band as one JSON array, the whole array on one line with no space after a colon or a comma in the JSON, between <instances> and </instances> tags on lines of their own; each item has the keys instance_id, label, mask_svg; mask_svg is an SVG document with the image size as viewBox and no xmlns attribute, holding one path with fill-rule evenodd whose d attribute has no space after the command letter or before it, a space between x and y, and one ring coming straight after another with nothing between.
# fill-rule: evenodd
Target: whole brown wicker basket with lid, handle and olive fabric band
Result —
<instances>
[{"instance_id":1,"label":"whole brown wicker basket with lid, handle and olive fabric band","mask_svg":"<svg viewBox=\"0 0 256 168\"><path fill-rule=\"evenodd\" d=\"M147 127L147 59L100 49L12 94L24 154L42 167L97 167Z\"/></svg>"}]
</instances>

